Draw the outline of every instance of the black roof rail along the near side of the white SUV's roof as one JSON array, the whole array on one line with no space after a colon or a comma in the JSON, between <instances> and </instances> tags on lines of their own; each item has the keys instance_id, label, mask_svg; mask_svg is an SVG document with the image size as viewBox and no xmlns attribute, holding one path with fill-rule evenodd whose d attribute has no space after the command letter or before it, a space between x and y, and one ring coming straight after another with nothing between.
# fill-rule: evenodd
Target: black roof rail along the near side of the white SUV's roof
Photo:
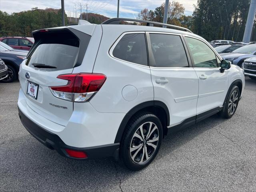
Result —
<instances>
[{"instance_id":1,"label":"black roof rail along the near side of the white SUV's roof","mask_svg":"<svg viewBox=\"0 0 256 192\"><path fill-rule=\"evenodd\" d=\"M108 19L104 22L102 22L101 24L120 24L120 21L133 21L133 22L141 22L141 23L146 23L147 26L151 26L154 27L154 25L162 25L162 26L167 26L176 30L182 30L182 31L186 31L186 32L190 32L192 33L192 31L190 31L187 28L184 27L180 27L180 26L176 26L176 25L170 25L170 24L165 24L165 23L159 23L159 22L154 22L154 21L145 21L145 20L138 20L138 19L129 19L129 18L111 18Z\"/></svg>"}]
</instances>

